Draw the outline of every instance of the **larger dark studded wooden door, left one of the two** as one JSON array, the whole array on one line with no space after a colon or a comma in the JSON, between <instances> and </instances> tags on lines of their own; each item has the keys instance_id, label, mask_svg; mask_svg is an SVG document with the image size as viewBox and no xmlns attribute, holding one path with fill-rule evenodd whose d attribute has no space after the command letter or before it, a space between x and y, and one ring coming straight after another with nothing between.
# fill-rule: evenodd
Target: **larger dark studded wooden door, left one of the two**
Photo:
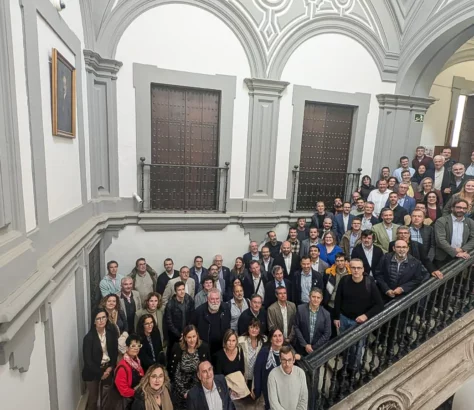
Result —
<instances>
[{"instance_id":1,"label":"larger dark studded wooden door, left one of the two","mask_svg":"<svg viewBox=\"0 0 474 410\"><path fill-rule=\"evenodd\" d=\"M153 84L151 106L151 208L215 210L220 93Z\"/></svg>"}]
</instances>

